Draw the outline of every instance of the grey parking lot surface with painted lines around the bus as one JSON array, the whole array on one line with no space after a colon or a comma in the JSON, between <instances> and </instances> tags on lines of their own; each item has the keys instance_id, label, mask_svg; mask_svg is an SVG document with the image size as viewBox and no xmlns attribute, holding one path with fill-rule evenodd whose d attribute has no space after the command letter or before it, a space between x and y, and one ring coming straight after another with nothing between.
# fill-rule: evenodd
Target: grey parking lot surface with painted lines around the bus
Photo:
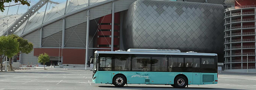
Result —
<instances>
[{"instance_id":1,"label":"grey parking lot surface with painted lines around the bus","mask_svg":"<svg viewBox=\"0 0 256 90\"><path fill-rule=\"evenodd\" d=\"M217 85L114 85L92 83L92 71L31 69L0 72L0 90L256 90L256 74L221 73Z\"/></svg>"}]
</instances>

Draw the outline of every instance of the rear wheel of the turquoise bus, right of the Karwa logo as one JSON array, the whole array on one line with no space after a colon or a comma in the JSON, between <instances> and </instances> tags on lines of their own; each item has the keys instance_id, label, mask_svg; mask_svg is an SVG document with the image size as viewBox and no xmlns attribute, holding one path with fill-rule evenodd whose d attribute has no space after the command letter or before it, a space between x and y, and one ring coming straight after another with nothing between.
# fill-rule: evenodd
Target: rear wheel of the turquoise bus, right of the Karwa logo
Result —
<instances>
[{"instance_id":1,"label":"rear wheel of the turquoise bus, right of the Karwa logo","mask_svg":"<svg viewBox=\"0 0 256 90\"><path fill-rule=\"evenodd\" d=\"M185 88L187 86L187 79L184 76L177 76L174 79L174 87L175 88Z\"/></svg>"}]
</instances>

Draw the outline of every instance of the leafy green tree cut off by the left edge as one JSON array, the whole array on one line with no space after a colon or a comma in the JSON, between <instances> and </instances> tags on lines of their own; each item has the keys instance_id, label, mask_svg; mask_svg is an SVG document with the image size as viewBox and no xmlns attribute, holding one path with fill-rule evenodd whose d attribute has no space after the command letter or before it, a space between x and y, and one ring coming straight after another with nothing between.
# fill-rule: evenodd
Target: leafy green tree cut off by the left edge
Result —
<instances>
[{"instance_id":1,"label":"leafy green tree cut off by the left edge","mask_svg":"<svg viewBox=\"0 0 256 90\"><path fill-rule=\"evenodd\" d=\"M19 53L19 42L17 39L12 38L11 36L1 36L0 37L0 55L1 57L1 71L2 70L2 59L7 56L11 58L15 56L15 54Z\"/></svg>"}]
</instances>

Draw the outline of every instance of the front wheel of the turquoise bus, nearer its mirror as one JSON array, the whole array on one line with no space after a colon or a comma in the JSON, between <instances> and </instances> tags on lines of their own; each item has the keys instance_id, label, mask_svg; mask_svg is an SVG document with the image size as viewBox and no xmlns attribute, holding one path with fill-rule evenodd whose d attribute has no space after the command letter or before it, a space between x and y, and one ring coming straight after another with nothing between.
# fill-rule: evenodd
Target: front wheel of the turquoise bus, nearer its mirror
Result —
<instances>
[{"instance_id":1,"label":"front wheel of the turquoise bus, nearer its mirror","mask_svg":"<svg viewBox=\"0 0 256 90\"><path fill-rule=\"evenodd\" d=\"M124 77L123 75L116 75L113 78L112 83L116 87L123 87L126 84L126 77Z\"/></svg>"}]
</instances>

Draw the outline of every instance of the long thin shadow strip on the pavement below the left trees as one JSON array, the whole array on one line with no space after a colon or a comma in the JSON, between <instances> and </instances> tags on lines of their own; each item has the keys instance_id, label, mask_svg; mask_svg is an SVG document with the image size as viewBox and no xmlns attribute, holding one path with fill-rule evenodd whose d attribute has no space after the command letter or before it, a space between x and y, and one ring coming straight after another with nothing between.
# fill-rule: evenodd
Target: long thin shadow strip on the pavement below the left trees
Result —
<instances>
[{"instance_id":1,"label":"long thin shadow strip on the pavement below the left trees","mask_svg":"<svg viewBox=\"0 0 256 90\"><path fill-rule=\"evenodd\" d=\"M0 72L1 73L1 72ZM68 72L3 72L1 74L69 74Z\"/></svg>"}]
</instances>

